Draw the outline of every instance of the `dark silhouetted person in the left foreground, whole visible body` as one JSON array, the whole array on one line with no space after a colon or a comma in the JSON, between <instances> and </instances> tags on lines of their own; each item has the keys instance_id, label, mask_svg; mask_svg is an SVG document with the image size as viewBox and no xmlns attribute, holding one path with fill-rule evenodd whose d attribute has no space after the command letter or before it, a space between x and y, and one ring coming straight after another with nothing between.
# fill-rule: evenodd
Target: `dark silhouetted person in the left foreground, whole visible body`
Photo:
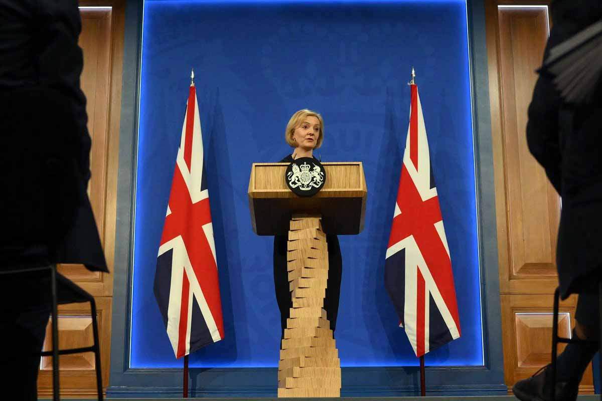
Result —
<instances>
[{"instance_id":1,"label":"dark silhouetted person in the left foreground, whole visible body","mask_svg":"<svg viewBox=\"0 0 602 401\"><path fill-rule=\"evenodd\" d=\"M0 0L0 272L108 271L87 195L80 32L76 0ZM59 287L60 303L69 296ZM50 297L48 271L0 275L0 388L11 399L37 399Z\"/></svg>"}]
</instances>

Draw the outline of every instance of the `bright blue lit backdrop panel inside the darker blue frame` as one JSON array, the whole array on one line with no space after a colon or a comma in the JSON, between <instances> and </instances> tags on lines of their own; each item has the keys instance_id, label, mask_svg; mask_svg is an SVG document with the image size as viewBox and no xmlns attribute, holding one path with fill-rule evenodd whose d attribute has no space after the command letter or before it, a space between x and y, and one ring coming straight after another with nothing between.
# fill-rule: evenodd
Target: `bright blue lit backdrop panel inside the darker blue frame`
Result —
<instances>
[{"instance_id":1,"label":"bright blue lit backdrop panel inside the darker blue frame","mask_svg":"<svg viewBox=\"0 0 602 401\"><path fill-rule=\"evenodd\" d=\"M272 237L250 225L253 162L291 153L293 112L324 116L322 161L362 161L365 230L341 236L337 347L343 366L413 366L383 265L414 66L452 255L462 337L430 366L480 366L483 339L464 1L190 2L144 5L132 285L132 368L181 367L152 292L191 68L196 74L226 338L196 367L276 366Z\"/></svg>"}]
</instances>

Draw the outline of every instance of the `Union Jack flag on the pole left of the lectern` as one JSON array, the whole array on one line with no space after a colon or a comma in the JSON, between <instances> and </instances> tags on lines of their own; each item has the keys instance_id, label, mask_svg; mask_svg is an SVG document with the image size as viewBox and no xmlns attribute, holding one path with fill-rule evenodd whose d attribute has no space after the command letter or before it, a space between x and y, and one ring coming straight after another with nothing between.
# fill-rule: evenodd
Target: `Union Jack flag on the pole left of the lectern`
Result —
<instances>
[{"instance_id":1,"label":"Union Jack flag on the pole left of the lectern","mask_svg":"<svg viewBox=\"0 0 602 401\"><path fill-rule=\"evenodd\" d=\"M176 358L224 338L203 138L194 84L157 256L155 298Z\"/></svg>"}]
</instances>

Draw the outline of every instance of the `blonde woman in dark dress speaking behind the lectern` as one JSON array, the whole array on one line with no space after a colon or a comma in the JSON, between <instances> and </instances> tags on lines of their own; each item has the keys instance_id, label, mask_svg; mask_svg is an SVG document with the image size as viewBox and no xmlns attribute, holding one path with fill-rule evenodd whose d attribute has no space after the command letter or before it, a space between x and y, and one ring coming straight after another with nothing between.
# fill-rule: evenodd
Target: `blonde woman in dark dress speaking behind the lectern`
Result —
<instances>
[{"instance_id":1,"label":"blonde woman in dark dress speaking behind the lectern","mask_svg":"<svg viewBox=\"0 0 602 401\"><path fill-rule=\"evenodd\" d=\"M293 148L293 153L280 162L290 163L298 158L314 158L314 149L319 148L324 140L324 120L322 116L308 109L297 111L288 121L285 140ZM284 329L287 328L289 309L293 307L288 285L287 240L286 235L274 237L274 285L276 287L276 301L280 309L282 338L284 338ZM329 270L324 310L326 310L327 318L330 320L330 328L334 331L337 325L343 260L338 237L327 235L326 242L328 243Z\"/></svg>"}]
</instances>

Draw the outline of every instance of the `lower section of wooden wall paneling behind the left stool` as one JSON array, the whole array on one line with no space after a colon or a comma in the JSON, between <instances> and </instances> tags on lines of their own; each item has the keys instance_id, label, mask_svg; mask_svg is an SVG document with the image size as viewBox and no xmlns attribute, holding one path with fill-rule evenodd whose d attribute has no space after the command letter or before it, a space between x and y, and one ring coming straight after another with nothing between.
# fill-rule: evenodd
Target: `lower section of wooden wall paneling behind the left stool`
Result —
<instances>
[{"instance_id":1,"label":"lower section of wooden wall paneling behind the left stool","mask_svg":"<svg viewBox=\"0 0 602 401\"><path fill-rule=\"evenodd\" d=\"M99 341L101 344L102 381L104 387L108 382L110 347L111 347L111 298L96 298ZM58 307L58 340L61 347L90 346L93 344L92 319L90 319L90 304L66 304ZM50 324L50 322L49 322ZM44 349L52 348L52 331L44 341ZM89 342L88 342L89 341ZM42 358L38 376L38 396L52 397L52 358ZM94 354L61 355L60 357L60 388L61 396L95 396L96 373L94 369Z\"/></svg>"}]
</instances>

